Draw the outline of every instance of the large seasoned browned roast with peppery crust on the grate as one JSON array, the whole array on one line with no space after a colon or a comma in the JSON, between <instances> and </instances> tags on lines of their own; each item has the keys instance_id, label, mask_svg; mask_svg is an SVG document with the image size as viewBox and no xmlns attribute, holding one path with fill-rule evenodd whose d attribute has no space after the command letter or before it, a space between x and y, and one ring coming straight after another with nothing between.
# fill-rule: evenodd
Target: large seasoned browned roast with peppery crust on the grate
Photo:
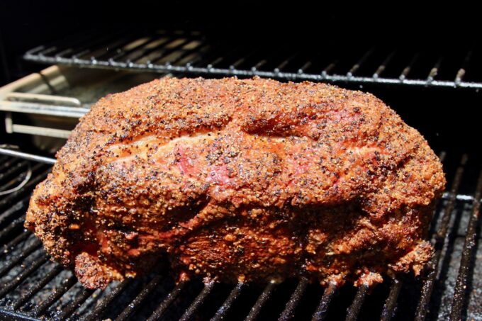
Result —
<instances>
[{"instance_id":1,"label":"large seasoned browned roast with peppery crust on the grate","mask_svg":"<svg viewBox=\"0 0 482 321\"><path fill-rule=\"evenodd\" d=\"M417 274L445 184L423 137L371 94L269 79L107 96L57 159L26 226L88 288L162 257L179 278L232 282Z\"/></svg>"}]
</instances>

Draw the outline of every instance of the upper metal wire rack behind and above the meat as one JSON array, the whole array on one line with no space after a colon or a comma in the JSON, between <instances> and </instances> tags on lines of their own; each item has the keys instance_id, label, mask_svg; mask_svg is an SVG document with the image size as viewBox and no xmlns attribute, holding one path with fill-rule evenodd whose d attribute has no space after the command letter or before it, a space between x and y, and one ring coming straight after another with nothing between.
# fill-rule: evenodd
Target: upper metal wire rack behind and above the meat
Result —
<instances>
[{"instance_id":1,"label":"upper metal wire rack behind and above the meat","mask_svg":"<svg viewBox=\"0 0 482 321\"><path fill-rule=\"evenodd\" d=\"M211 77L482 88L482 74L478 72L482 61L477 46L467 47L466 51L457 48L454 53L335 44L329 51L327 55L327 50L279 43L228 45L208 41L199 33L157 31L84 35L35 47L23 57L46 64Z\"/></svg>"}]
</instances>

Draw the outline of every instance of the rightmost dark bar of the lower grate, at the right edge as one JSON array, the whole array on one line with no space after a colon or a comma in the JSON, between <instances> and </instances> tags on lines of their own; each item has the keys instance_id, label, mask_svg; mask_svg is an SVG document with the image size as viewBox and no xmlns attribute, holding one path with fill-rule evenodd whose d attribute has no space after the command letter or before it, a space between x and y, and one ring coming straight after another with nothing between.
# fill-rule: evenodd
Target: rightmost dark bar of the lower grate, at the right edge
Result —
<instances>
[{"instance_id":1,"label":"rightmost dark bar of the lower grate, at the right edge","mask_svg":"<svg viewBox=\"0 0 482 321\"><path fill-rule=\"evenodd\" d=\"M469 269L473 250L476 245L476 228L480 218L479 208L481 206L482 194L482 171L478 176L476 193L473 198L472 213L469 218L469 226L467 227L466 237L464 241L464 249L462 250L462 258L460 261L459 275L454 290L454 299L452 301L452 311L450 312L450 320L462 320L462 311L464 309L466 299L467 278L469 278Z\"/></svg>"}]
</instances>

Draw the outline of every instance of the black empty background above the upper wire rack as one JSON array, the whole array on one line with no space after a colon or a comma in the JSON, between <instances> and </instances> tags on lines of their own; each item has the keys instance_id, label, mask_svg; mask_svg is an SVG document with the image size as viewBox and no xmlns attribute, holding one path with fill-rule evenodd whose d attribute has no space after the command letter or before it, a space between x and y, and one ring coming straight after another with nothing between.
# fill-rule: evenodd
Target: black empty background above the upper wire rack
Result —
<instances>
[{"instance_id":1,"label":"black empty background above the upper wire rack","mask_svg":"<svg viewBox=\"0 0 482 321\"><path fill-rule=\"evenodd\" d=\"M261 5L263 4L263 5ZM85 30L167 28L201 30L224 42L256 46L267 40L357 47L378 43L453 50L477 39L478 10L325 4L307 1L0 1L0 84L39 69L23 62L26 50ZM328 47L327 50L330 50Z\"/></svg>"}]
</instances>

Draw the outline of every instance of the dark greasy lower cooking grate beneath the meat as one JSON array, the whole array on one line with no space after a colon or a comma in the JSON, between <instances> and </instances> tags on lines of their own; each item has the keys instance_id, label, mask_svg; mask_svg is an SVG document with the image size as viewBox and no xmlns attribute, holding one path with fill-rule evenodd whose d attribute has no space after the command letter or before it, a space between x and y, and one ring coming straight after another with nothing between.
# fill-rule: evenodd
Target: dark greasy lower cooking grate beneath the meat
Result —
<instances>
[{"instance_id":1,"label":"dark greasy lower cooking grate beneath the meat","mask_svg":"<svg viewBox=\"0 0 482 321\"><path fill-rule=\"evenodd\" d=\"M23 230L30 193L47 164L0 156L0 320L481 320L480 164L440 154L448 187L432 222L432 270L418 279L386 280L369 289L321 288L301 278L283 283L175 284L167 267L89 291L48 260Z\"/></svg>"}]
</instances>

